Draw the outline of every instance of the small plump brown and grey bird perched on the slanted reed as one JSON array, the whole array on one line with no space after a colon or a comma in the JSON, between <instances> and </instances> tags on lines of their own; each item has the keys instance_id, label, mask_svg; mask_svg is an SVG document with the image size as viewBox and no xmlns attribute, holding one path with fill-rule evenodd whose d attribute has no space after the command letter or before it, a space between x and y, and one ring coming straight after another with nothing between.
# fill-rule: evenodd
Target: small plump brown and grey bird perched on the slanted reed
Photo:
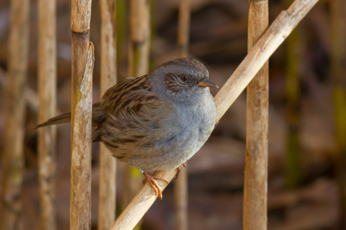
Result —
<instances>
[{"instance_id":1,"label":"small plump brown and grey bird perched on the slanted reed","mask_svg":"<svg viewBox=\"0 0 346 230\"><path fill-rule=\"evenodd\" d=\"M93 142L103 142L113 157L144 174L155 194L162 190L149 171L178 169L207 141L216 123L216 107L207 68L193 58L179 58L151 73L109 88L92 105ZM71 121L71 113L36 128Z\"/></svg>"}]
</instances>

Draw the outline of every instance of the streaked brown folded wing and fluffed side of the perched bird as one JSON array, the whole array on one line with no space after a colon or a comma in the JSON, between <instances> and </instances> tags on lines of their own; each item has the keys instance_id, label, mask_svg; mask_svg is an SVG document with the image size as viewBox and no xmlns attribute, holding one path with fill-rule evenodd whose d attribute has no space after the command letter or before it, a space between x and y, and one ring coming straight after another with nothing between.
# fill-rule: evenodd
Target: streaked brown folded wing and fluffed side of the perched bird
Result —
<instances>
[{"instance_id":1,"label":"streaked brown folded wing and fluffed side of the perched bird","mask_svg":"<svg viewBox=\"0 0 346 230\"><path fill-rule=\"evenodd\" d=\"M150 92L145 77L135 79L137 84L126 86L131 90L118 91L114 101L103 98L103 102L109 102L111 106L101 106L113 109L108 110L99 135L113 155L127 163L128 158L144 156L155 145L174 141L176 136L171 122L176 114L175 108L171 102Z\"/></svg>"}]
</instances>

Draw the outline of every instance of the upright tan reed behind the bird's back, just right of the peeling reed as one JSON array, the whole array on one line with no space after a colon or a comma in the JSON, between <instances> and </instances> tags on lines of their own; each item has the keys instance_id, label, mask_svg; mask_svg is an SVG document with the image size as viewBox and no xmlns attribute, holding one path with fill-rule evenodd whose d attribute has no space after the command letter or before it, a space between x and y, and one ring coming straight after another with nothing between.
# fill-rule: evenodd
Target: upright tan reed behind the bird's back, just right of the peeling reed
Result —
<instances>
[{"instance_id":1,"label":"upright tan reed behind the bird's back, just right of the peeling reed","mask_svg":"<svg viewBox=\"0 0 346 230\"><path fill-rule=\"evenodd\" d=\"M100 0L101 9L101 97L115 85L116 76L116 30L115 0ZM116 159L100 143L100 187L98 230L107 230L115 220L116 208Z\"/></svg>"}]
</instances>

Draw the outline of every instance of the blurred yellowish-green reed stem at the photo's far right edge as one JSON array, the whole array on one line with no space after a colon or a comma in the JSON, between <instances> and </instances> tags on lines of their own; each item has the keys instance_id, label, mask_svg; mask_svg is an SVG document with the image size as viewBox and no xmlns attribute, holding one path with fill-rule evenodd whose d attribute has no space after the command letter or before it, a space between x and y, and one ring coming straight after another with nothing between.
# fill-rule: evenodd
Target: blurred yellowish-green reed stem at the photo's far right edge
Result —
<instances>
[{"instance_id":1,"label":"blurred yellowish-green reed stem at the photo's far right edge","mask_svg":"<svg viewBox=\"0 0 346 230\"><path fill-rule=\"evenodd\" d=\"M346 228L346 5L331 3L331 76L334 84L334 116L337 140L336 177L340 197L340 229Z\"/></svg>"}]
</instances>

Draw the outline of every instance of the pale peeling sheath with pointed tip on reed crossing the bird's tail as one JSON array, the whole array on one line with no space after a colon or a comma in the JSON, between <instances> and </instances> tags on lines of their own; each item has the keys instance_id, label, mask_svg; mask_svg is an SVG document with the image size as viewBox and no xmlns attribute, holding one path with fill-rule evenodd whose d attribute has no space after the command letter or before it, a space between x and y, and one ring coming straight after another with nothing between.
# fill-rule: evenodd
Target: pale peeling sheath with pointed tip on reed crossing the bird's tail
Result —
<instances>
[{"instance_id":1,"label":"pale peeling sheath with pointed tip on reed crossing the bird's tail","mask_svg":"<svg viewBox=\"0 0 346 230\"><path fill-rule=\"evenodd\" d=\"M94 45L90 42L85 72L74 109L71 143L70 229L91 228L91 109ZM72 128L71 127L71 128Z\"/></svg>"}]
</instances>

